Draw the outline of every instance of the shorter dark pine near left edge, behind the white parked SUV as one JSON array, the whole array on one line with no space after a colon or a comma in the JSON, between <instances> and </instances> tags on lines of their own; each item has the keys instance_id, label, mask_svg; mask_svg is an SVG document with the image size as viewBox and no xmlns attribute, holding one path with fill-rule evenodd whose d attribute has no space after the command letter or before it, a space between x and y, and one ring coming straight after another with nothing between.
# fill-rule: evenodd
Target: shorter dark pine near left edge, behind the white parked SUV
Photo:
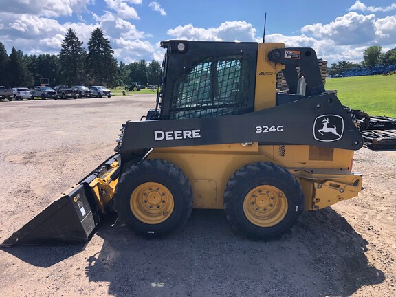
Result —
<instances>
[{"instance_id":1,"label":"shorter dark pine near left edge, behind the white parked SUV","mask_svg":"<svg viewBox=\"0 0 396 297\"><path fill-rule=\"evenodd\" d=\"M33 76L23 59L23 52L12 47L7 73L10 87L26 87L33 84Z\"/></svg>"}]
</instances>

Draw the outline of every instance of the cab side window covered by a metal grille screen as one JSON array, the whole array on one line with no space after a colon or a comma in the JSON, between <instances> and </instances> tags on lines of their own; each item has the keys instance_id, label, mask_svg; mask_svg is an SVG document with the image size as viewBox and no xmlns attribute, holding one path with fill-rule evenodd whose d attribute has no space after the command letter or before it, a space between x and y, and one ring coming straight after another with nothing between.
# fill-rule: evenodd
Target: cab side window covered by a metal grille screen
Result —
<instances>
[{"instance_id":1,"label":"cab side window covered by a metal grille screen","mask_svg":"<svg viewBox=\"0 0 396 297\"><path fill-rule=\"evenodd\" d=\"M246 113L250 56L203 58L172 88L170 118L208 118Z\"/></svg>"}]
</instances>

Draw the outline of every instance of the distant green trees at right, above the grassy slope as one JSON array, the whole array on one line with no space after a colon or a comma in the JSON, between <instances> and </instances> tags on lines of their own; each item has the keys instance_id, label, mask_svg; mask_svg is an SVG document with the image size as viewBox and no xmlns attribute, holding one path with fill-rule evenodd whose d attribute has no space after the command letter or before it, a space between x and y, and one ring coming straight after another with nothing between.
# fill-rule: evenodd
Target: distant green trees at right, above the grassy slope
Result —
<instances>
[{"instance_id":1,"label":"distant green trees at right, above the grassy slope","mask_svg":"<svg viewBox=\"0 0 396 297\"><path fill-rule=\"evenodd\" d=\"M363 52L364 61L360 63L352 63L348 61L339 61L338 63L331 64L328 67L327 74L330 76L340 74L345 70L351 69L353 67L359 66L372 66L382 63L394 64L396 63L396 48L388 50L385 54L382 54L382 47L380 45L373 45L367 47Z\"/></svg>"}]
</instances>

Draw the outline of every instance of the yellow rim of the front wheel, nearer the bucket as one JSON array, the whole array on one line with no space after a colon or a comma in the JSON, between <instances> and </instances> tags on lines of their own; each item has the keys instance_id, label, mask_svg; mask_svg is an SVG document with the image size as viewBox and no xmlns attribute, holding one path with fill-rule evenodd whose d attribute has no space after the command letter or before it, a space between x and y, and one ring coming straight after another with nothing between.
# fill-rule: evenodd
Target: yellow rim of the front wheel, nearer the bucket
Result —
<instances>
[{"instance_id":1,"label":"yellow rim of the front wheel, nearer the bucket","mask_svg":"<svg viewBox=\"0 0 396 297\"><path fill-rule=\"evenodd\" d=\"M166 221L175 206L168 188L155 182L146 182L135 188L129 204L133 215L150 225Z\"/></svg>"}]
</instances>

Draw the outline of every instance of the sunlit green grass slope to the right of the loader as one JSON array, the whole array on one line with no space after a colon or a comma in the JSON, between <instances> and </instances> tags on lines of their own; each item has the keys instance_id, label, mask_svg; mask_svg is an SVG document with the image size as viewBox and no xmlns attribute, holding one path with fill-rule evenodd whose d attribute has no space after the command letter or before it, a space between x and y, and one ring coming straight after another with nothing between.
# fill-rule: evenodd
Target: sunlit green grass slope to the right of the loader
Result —
<instances>
[{"instance_id":1,"label":"sunlit green grass slope to the right of the loader","mask_svg":"<svg viewBox=\"0 0 396 297\"><path fill-rule=\"evenodd\" d=\"M396 118L396 75L327 78L326 89L337 90L347 107Z\"/></svg>"}]
</instances>

